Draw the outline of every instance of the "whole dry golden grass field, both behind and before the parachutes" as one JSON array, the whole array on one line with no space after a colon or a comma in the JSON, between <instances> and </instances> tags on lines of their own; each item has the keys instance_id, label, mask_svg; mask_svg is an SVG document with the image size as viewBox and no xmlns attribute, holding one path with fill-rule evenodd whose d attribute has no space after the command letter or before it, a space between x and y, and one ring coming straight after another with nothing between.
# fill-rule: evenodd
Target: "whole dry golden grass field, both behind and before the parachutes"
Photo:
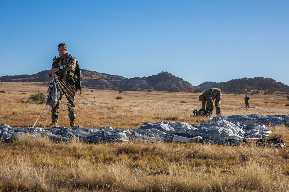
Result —
<instances>
[{"instance_id":1,"label":"whole dry golden grass field, both behind and before the parachutes","mask_svg":"<svg viewBox=\"0 0 289 192\"><path fill-rule=\"evenodd\" d=\"M5 92L0 92L0 124L33 126L43 104L28 98L38 92L46 94L47 88L42 83L2 82L0 91ZM83 89L82 96L87 100L77 96L80 108L76 111L94 128L134 129L142 122L159 121L203 123L208 119L190 118L193 110L201 109L199 95ZM286 96L250 95L250 107L257 108L245 109L240 108L245 95L223 94L222 115L289 114ZM67 114L64 100L62 106ZM48 112L46 107L36 127L47 128L51 123ZM124 121L125 116L138 121ZM116 121L117 117L122 119ZM75 124L89 128L81 118ZM63 113L58 125L69 126ZM271 138L281 138L288 144L288 127L268 129L273 132ZM0 191L289 191L289 151L254 143L85 143L23 137L0 142Z\"/></svg>"}]
</instances>

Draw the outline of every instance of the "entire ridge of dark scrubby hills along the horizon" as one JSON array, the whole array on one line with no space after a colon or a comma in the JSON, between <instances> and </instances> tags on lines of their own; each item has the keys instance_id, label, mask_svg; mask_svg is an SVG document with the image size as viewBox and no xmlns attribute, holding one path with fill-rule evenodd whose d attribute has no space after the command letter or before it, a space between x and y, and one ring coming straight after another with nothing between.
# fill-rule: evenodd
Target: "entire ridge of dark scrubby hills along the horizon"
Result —
<instances>
[{"instance_id":1,"label":"entire ridge of dark scrubby hills along the horizon","mask_svg":"<svg viewBox=\"0 0 289 192\"><path fill-rule=\"evenodd\" d=\"M49 82L48 76L50 70L40 71L33 75L5 75L0 77L0 82ZM207 81L198 86L192 86L191 83L176 77L168 72L161 72L157 75L148 77L125 78L119 75L109 75L81 69L81 86L91 89L110 89L119 91L137 91L137 90L158 90L169 92L203 92L208 88L219 88L224 93L250 93L253 90L263 90L268 93L275 91L289 93L289 86L274 79L255 77L232 79L227 82L216 83Z\"/></svg>"}]
</instances>

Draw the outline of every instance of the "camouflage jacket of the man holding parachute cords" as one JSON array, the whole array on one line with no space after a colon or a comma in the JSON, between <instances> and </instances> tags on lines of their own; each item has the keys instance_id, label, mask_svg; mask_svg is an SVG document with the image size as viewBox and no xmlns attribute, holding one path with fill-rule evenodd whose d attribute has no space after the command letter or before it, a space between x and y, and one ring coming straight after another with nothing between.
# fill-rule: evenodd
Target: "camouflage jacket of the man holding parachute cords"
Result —
<instances>
[{"instance_id":1,"label":"camouflage jacket of the man holding parachute cords","mask_svg":"<svg viewBox=\"0 0 289 192\"><path fill-rule=\"evenodd\" d=\"M64 66L64 69L57 71L56 75L60 78L63 78L65 71L67 71L67 74L66 74L67 82L69 82L71 80L71 77L74 76L74 71L76 67L76 59L71 55L68 58L69 55L70 55L69 53L66 53L64 57L55 56L53 58L52 68L51 68L53 69L53 68L58 68L59 66ZM68 59L68 62L67 62L67 59Z\"/></svg>"}]
</instances>

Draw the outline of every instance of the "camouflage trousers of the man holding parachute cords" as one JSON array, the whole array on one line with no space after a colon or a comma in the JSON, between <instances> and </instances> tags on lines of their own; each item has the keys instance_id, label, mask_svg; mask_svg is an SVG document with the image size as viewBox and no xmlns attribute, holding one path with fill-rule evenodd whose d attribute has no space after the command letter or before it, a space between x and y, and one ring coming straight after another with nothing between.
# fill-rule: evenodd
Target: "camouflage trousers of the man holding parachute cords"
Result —
<instances>
[{"instance_id":1,"label":"camouflage trousers of the man holding parachute cords","mask_svg":"<svg viewBox=\"0 0 289 192\"><path fill-rule=\"evenodd\" d=\"M61 99L62 99L63 94L65 94L65 97L67 99L68 117L69 117L70 122L74 123L76 119L75 103L74 103L76 89L75 87L70 87L70 88L65 87L61 90L62 92L60 91L60 97L59 97L58 102L56 103L55 107L52 107L51 109L52 122L57 122L58 115L59 115L59 108L61 105Z\"/></svg>"}]
</instances>

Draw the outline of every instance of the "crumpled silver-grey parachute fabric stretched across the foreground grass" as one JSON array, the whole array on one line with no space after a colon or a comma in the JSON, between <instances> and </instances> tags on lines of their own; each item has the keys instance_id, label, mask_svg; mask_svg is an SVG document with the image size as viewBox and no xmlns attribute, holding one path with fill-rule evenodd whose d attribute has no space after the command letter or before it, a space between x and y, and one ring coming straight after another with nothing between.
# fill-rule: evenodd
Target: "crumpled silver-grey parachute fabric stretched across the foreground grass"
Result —
<instances>
[{"instance_id":1,"label":"crumpled silver-grey parachute fabric stretched across the foreground grass","mask_svg":"<svg viewBox=\"0 0 289 192\"><path fill-rule=\"evenodd\" d=\"M234 122L233 122L234 121ZM257 123L256 123L257 122ZM260 140L272 134L266 125L289 124L289 115L234 115L214 117L207 123L189 125L185 122L162 121L146 123L139 129L113 129L111 127L87 129L75 126L72 129L55 126L53 128L11 128L0 126L0 139L15 140L23 135L49 136L53 140L79 139L85 142L129 142L129 140L149 140L164 142L201 142L222 145L241 145L243 141Z\"/></svg>"}]
</instances>

